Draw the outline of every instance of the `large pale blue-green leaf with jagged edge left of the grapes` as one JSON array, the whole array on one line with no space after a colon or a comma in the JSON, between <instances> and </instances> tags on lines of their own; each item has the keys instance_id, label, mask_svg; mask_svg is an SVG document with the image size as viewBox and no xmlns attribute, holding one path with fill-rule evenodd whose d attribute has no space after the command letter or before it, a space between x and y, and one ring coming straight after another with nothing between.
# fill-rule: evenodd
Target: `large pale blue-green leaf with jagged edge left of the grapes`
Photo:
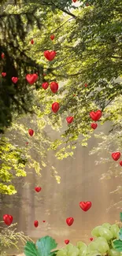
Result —
<instances>
[{"instance_id":1,"label":"large pale blue-green leaf with jagged edge left of the grapes","mask_svg":"<svg viewBox=\"0 0 122 256\"><path fill-rule=\"evenodd\" d=\"M50 255L50 250L57 247L57 243L52 237L45 236L37 240L36 246L38 247L39 255L48 256Z\"/></svg>"}]
</instances>

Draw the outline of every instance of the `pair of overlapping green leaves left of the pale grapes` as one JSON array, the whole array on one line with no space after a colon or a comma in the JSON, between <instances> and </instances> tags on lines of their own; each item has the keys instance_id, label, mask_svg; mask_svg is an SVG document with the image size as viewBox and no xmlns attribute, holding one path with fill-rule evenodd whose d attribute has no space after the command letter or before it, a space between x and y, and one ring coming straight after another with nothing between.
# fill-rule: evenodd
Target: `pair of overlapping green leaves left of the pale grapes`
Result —
<instances>
[{"instance_id":1,"label":"pair of overlapping green leaves left of the pale grapes","mask_svg":"<svg viewBox=\"0 0 122 256\"><path fill-rule=\"evenodd\" d=\"M51 250L57 247L57 243L50 236L44 236L35 243L27 242L24 247L26 256L49 256ZM53 251L54 255L55 251ZM52 255L52 254L51 254Z\"/></svg>"}]
</instances>

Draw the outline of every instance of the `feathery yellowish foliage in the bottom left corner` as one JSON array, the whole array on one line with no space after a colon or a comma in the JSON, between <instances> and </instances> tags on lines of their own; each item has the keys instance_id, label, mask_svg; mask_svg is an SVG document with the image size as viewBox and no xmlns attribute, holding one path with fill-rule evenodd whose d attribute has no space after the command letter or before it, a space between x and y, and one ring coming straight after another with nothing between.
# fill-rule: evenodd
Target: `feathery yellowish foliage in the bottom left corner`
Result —
<instances>
[{"instance_id":1,"label":"feathery yellowish foliage in the bottom left corner","mask_svg":"<svg viewBox=\"0 0 122 256\"><path fill-rule=\"evenodd\" d=\"M1 224L3 221L0 222ZM17 224L11 224L7 228L0 227L0 255L6 256L7 250L11 247L18 247L18 243L25 244L28 240L31 240L28 236L24 236L24 232L17 232L15 228ZM20 246L20 244L19 244Z\"/></svg>"}]
</instances>

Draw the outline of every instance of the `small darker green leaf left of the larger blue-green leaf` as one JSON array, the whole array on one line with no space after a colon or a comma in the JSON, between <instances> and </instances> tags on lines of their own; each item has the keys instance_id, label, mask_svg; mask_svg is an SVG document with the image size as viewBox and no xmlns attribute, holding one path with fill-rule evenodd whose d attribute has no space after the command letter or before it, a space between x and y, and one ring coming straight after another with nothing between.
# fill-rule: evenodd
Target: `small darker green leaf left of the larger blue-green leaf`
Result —
<instances>
[{"instance_id":1,"label":"small darker green leaf left of the larger blue-green leaf","mask_svg":"<svg viewBox=\"0 0 122 256\"><path fill-rule=\"evenodd\" d=\"M26 245L24 247L24 254L26 256L41 256L41 254L39 254L39 251L35 247L35 243L33 243L33 242L26 243Z\"/></svg>"}]
</instances>

